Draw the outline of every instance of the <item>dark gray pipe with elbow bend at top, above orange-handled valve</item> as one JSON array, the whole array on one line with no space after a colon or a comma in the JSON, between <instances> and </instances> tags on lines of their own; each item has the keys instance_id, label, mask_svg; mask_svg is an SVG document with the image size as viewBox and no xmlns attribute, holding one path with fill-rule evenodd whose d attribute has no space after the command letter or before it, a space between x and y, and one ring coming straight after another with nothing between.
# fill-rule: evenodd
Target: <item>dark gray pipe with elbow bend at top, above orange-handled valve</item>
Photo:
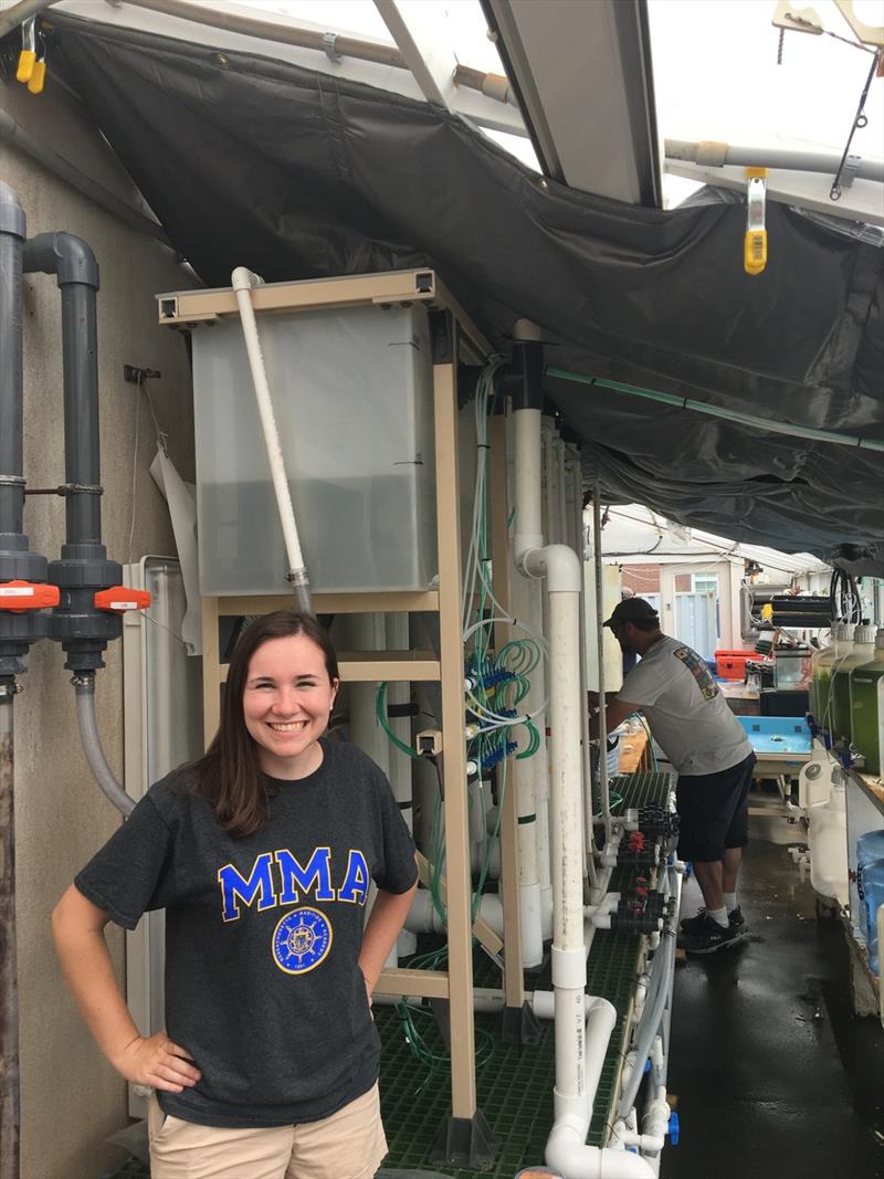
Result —
<instances>
[{"instance_id":1,"label":"dark gray pipe with elbow bend at top, above orange-handled valve","mask_svg":"<svg viewBox=\"0 0 884 1179\"><path fill-rule=\"evenodd\" d=\"M83 238L39 233L25 245L25 270L55 275L61 290L67 544L100 545L98 263Z\"/></svg>"}]
</instances>

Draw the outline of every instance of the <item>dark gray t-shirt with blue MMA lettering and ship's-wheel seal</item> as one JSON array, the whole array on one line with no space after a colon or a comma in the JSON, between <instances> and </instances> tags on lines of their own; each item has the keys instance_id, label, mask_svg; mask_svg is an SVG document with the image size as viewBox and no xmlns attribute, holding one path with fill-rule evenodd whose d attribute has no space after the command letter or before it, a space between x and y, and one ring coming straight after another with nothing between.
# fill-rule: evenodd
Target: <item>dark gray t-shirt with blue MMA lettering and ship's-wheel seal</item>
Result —
<instances>
[{"instance_id":1,"label":"dark gray t-shirt with blue MMA lettering and ship's-wheel seal","mask_svg":"<svg viewBox=\"0 0 884 1179\"><path fill-rule=\"evenodd\" d=\"M369 883L405 893L411 836L381 770L323 739L297 782L265 779L269 822L232 838L187 768L151 788L77 876L133 929L166 910L166 1030L203 1078L158 1092L205 1126L326 1118L377 1080L380 1040L357 964Z\"/></svg>"}]
</instances>

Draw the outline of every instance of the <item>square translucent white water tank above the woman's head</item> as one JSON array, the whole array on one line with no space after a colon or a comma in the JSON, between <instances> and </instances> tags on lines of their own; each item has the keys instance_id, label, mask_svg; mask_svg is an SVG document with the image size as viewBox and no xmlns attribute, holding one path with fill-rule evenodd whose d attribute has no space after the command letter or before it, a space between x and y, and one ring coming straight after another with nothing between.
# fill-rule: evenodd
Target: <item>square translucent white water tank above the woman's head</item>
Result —
<instances>
[{"instance_id":1,"label":"square translucent white water tank above the woman's head","mask_svg":"<svg viewBox=\"0 0 884 1179\"><path fill-rule=\"evenodd\" d=\"M427 588L437 568L424 308L262 315L258 331L311 588ZM285 593L238 320L193 331L193 394L200 590Z\"/></svg>"}]
</instances>

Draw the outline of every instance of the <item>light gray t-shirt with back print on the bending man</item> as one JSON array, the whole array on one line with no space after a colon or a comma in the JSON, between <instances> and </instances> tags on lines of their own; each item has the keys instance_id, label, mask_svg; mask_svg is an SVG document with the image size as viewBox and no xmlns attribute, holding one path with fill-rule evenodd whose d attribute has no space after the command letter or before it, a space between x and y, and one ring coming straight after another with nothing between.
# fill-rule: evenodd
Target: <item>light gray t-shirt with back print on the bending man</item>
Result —
<instances>
[{"instance_id":1,"label":"light gray t-shirt with back print on the bending man","mask_svg":"<svg viewBox=\"0 0 884 1179\"><path fill-rule=\"evenodd\" d=\"M679 639L664 637L649 647L616 698L641 709L679 773L718 773L752 752L706 661Z\"/></svg>"}]
</instances>

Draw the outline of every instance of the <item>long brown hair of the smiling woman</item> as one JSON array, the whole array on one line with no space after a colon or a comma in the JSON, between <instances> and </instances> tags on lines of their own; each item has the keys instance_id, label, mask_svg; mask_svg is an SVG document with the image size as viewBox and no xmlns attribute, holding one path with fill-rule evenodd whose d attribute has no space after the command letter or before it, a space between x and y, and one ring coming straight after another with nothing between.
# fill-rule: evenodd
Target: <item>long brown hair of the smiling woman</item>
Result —
<instances>
[{"instance_id":1,"label":"long brown hair of the smiling woman","mask_svg":"<svg viewBox=\"0 0 884 1179\"><path fill-rule=\"evenodd\" d=\"M233 648L218 732L205 755L193 764L196 792L211 803L220 825L236 837L253 835L268 821L268 789L257 746L243 716L249 665L264 643L296 634L303 634L319 647L329 680L334 683L338 678L337 656L328 631L311 614L290 610L264 614L248 627Z\"/></svg>"}]
</instances>

